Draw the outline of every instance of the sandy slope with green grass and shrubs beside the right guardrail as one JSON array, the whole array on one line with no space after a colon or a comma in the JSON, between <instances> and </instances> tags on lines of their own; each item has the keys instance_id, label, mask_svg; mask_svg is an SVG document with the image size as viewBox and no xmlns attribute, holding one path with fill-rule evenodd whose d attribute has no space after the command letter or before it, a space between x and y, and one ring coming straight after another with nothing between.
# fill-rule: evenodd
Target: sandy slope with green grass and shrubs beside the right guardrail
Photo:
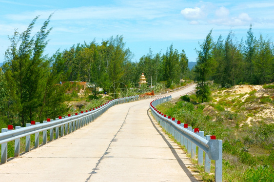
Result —
<instances>
[{"instance_id":1,"label":"sandy slope with green grass and shrubs beside the right guardrail","mask_svg":"<svg viewBox=\"0 0 274 182\"><path fill-rule=\"evenodd\" d=\"M236 85L231 89L212 84L211 91L209 102L198 103L196 95L186 95L157 109L223 140L224 182L273 182L273 84ZM203 167L193 170L200 171L198 178L203 181L214 180Z\"/></svg>"}]
</instances>

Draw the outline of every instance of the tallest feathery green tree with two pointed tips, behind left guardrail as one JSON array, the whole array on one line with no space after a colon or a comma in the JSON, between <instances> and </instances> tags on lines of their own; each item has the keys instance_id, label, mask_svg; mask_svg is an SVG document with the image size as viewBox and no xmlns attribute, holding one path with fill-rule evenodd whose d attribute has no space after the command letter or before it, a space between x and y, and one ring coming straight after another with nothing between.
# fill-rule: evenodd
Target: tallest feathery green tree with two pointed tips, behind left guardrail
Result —
<instances>
[{"instance_id":1,"label":"tallest feathery green tree with two pointed tips, behind left guardrail","mask_svg":"<svg viewBox=\"0 0 274 182\"><path fill-rule=\"evenodd\" d=\"M44 67L46 63L42 53L47 44L46 38L51 31L47 30L49 19L44 22L40 31L33 38L30 37L36 17L26 31L19 34L17 31L11 40L11 46L5 53L4 72L13 90L11 97L17 104L22 125L25 121L33 120L35 110L41 99L40 86L43 84ZM19 48L17 45L20 43Z\"/></svg>"}]
</instances>

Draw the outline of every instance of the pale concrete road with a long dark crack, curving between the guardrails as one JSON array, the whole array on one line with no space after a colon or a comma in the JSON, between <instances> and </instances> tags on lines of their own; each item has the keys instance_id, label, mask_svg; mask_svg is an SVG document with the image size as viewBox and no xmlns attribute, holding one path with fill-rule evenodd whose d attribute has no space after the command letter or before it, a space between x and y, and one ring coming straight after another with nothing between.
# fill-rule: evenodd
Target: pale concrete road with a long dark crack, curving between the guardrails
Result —
<instances>
[{"instance_id":1,"label":"pale concrete road with a long dark crack, curving between the guardrails","mask_svg":"<svg viewBox=\"0 0 274 182\"><path fill-rule=\"evenodd\" d=\"M0 182L197 182L189 158L151 116L150 101L111 107L72 134L1 164Z\"/></svg>"}]
</instances>

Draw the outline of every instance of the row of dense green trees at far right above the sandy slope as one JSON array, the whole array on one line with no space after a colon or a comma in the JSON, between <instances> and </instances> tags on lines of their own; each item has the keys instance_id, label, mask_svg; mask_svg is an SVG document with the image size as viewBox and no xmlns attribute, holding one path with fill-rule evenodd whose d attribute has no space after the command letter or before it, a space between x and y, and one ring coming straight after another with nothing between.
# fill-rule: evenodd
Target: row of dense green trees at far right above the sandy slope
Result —
<instances>
[{"instance_id":1,"label":"row of dense green trees at far right above the sandy slope","mask_svg":"<svg viewBox=\"0 0 274 182\"><path fill-rule=\"evenodd\" d=\"M274 80L273 40L265 40L262 35L256 40L252 25L245 42L238 42L232 31L226 40L219 36L213 42L211 56L214 63L208 68L213 70L210 78L222 87L229 88L243 83L266 84Z\"/></svg>"}]
</instances>

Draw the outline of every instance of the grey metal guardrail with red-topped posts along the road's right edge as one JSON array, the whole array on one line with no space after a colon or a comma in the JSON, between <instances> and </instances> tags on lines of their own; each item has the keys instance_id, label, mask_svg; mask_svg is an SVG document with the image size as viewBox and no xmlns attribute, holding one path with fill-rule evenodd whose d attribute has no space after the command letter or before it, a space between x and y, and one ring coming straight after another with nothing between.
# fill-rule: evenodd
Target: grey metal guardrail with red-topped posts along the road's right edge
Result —
<instances>
[{"instance_id":1,"label":"grey metal guardrail with red-topped posts along the road's right edge","mask_svg":"<svg viewBox=\"0 0 274 182\"><path fill-rule=\"evenodd\" d=\"M192 159L196 159L196 147L198 147L198 165L204 164L205 172L210 173L211 160L214 160L215 182L222 182L222 140L215 140L215 136L204 136L204 132L199 131L198 128L192 129L188 124L166 116L155 108L166 101L171 101L171 96L152 101L150 103L152 115L177 142L185 146ZM203 158L204 152L205 158Z\"/></svg>"}]
</instances>

